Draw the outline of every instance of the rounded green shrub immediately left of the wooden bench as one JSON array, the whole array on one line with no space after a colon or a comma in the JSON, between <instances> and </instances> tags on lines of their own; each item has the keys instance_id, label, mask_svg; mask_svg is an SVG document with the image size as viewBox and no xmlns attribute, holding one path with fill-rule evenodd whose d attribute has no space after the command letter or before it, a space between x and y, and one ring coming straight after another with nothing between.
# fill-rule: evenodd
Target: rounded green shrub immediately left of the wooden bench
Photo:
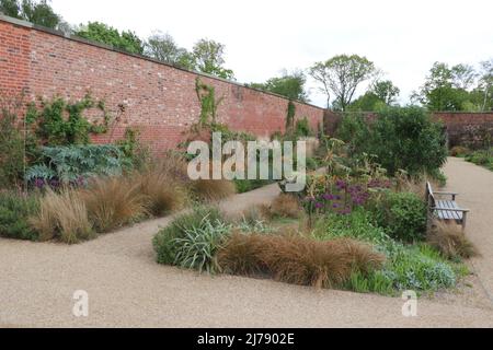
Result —
<instances>
[{"instance_id":1,"label":"rounded green shrub immediately left of the wooden bench","mask_svg":"<svg viewBox=\"0 0 493 350\"><path fill-rule=\"evenodd\" d=\"M378 225L395 240L421 241L426 234L426 205L413 192L388 192L370 205Z\"/></svg>"}]
</instances>

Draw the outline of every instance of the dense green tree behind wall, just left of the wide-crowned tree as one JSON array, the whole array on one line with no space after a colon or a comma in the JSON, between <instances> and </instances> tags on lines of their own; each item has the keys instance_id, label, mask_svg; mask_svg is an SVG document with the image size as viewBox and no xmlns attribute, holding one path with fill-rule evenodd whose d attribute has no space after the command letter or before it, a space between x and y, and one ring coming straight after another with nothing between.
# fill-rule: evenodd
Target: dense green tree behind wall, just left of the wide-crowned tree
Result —
<instances>
[{"instance_id":1,"label":"dense green tree behind wall, just left of the wide-crowned tree","mask_svg":"<svg viewBox=\"0 0 493 350\"><path fill-rule=\"evenodd\" d=\"M265 83L252 83L250 88L272 92L289 100L309 102L308 93L305 90L307 78L302 71L283 72L282 77L268 79Z\"/></svg>"}]
</instances>

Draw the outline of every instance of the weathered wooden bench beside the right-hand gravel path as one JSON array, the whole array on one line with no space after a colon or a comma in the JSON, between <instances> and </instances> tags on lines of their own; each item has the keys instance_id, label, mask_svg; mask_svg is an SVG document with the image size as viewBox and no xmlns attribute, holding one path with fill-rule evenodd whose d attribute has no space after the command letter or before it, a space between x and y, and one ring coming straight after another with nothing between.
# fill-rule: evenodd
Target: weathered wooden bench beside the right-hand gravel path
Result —
<instances>
[{"instance_id":1,"label":"weathered wooden bench beside the right-hand gravel path","mask_svg":"<svg viewBox=\"0 0 493 350\"><path fill-rule=\"evenodd\" d=\"M438 197L450 196L450 200L437 199ZM466 220L469 209L460 208L456 202L458 194L434 191L432 184L426 183L426 198L428 202L428 219L443 221L455 221L466 229Z\"/></svg>"}]
</instances>

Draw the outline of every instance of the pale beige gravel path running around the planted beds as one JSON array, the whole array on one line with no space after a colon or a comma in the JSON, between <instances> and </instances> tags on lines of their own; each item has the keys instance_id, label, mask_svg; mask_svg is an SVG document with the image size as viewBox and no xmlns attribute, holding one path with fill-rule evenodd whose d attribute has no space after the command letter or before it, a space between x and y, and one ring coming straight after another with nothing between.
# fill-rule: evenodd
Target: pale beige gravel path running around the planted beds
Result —
<instances>
[{"instance_id":1,"label":"pale beige gravel path running around the planted beds","mask_svg":"<svg viewBox=\"0 0 493 350\"><path fill-rule=\"evenodd\" d=\"M446 167L450 189L473 210L473 260L493 292L493 173L459 160ZM222 203L229 212L268 202L276 186ZM0 240L3 327L492 327L492 303L420 300L403 317L401 299L313 290L230 276L199 276L154 262L151 238L171 218L138 224L76 246ZM481 287L475 287L481 288ZM475 289L474 288L474 289ZM89 293L89 317L72 315L76 290Z\"/></svg>"}]
</instances>

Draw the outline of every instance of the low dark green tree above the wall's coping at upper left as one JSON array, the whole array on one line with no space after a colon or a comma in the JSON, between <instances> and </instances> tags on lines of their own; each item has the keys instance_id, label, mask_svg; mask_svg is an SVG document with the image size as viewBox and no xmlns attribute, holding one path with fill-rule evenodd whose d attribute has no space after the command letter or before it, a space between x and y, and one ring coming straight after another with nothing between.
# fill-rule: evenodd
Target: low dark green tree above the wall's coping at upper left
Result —
<instances>
[{"instance_id":1,"label":"low dark green tree above the wall's coping at upper left","mask_svg":"<svg viewBox=\"0 0 493 350\"><path fill-rule=\"evenodd\" d=\"M144 54L144 43L134 32L126 31L121 33L118 30L104 23L89 22L87 25L80 26L74 34L90 40L111 45L130 54Z\"/></svg>"}]
</instances>

